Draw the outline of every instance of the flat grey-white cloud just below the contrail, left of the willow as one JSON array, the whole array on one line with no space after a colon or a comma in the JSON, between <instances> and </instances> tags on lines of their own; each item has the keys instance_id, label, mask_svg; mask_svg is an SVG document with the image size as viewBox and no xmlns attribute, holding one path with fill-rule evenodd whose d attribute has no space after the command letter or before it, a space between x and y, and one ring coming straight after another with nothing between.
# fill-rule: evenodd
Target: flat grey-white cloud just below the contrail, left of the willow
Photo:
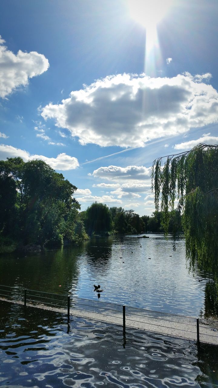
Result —
<instances>
[{"instance_id":1,"label":"flat grey-white cloud just below the contrail, left of the willow","mask_svg":"<svg viewBox=\"0 0 218 388\"><path fill-rule=\"evenodd\" d=\"M92 175L95 178L107 179L112 181L117 180L144 180L151 176L151 168L144 166L108 166L99 167L94 170Z\"/></svg>"}]
</instances>

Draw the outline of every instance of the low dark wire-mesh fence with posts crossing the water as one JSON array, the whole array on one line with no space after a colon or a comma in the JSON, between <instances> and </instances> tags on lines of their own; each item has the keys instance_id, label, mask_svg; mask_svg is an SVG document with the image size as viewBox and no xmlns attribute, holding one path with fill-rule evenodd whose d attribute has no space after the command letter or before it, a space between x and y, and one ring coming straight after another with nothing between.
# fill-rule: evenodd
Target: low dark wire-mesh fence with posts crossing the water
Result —
<instances>
[{"instance_id":1,"label":"low dark wire-mesh fence with posts crossing the water","mask_svg":"<svg viewBox=\"0 0 218 388\"><path fill-rule=\"evenodd\" d=\"M75 316L107 324L117 324L123 327L124 337L126 328L131 328L191 340L197 342L197 344L202 342L218 345L217 320L194 318L76 296L1 285L0 298L24 306L62 312L67 314L68 322L71 316Z\"/></svg>"}]
</instances>

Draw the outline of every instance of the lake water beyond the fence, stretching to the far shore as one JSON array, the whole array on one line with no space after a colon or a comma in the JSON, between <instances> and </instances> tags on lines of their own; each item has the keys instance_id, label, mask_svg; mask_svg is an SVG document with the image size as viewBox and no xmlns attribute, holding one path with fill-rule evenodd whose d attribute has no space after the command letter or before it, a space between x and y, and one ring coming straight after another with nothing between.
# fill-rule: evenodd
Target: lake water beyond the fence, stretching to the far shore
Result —
<instances>
[{"instance_id":1,"label":"lake water beyond the fence, stretching to the far shore","mask_svg":"<svg viewBox=\"0 0 218 388\"><path fill-rule=\"evenodd\" d=\"M204 298L208 281L209 274L197 268L189 274L184 240L173 252L172 241L160 234L96 238L82 246L0 258L0 284L192 316L204 315L204 302L207 316L214 313L209 288ZM100 284L100 296L93 284Z\"/></svg>"}]
</instances>

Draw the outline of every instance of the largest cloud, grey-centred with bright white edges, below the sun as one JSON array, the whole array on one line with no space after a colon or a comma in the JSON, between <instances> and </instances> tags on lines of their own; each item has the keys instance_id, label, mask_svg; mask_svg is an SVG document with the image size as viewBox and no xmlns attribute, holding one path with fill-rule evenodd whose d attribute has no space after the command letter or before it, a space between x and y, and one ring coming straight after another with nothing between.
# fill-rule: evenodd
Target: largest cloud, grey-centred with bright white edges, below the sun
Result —
<instances>
[{"instance_id":1,"label":"largest cloud, grey-centred with bright white edges, below the sun","mask_svg":"<svg viewBox=\"0 0 218 388\"><path fill-rule=\"evenodd\" d=\"M202 82L210 76L108 76L71 92L60 104L46 105L41 114L82 145L143 147L152 139L218 122L218 92Z\"/></svg>"}]
</instances>

